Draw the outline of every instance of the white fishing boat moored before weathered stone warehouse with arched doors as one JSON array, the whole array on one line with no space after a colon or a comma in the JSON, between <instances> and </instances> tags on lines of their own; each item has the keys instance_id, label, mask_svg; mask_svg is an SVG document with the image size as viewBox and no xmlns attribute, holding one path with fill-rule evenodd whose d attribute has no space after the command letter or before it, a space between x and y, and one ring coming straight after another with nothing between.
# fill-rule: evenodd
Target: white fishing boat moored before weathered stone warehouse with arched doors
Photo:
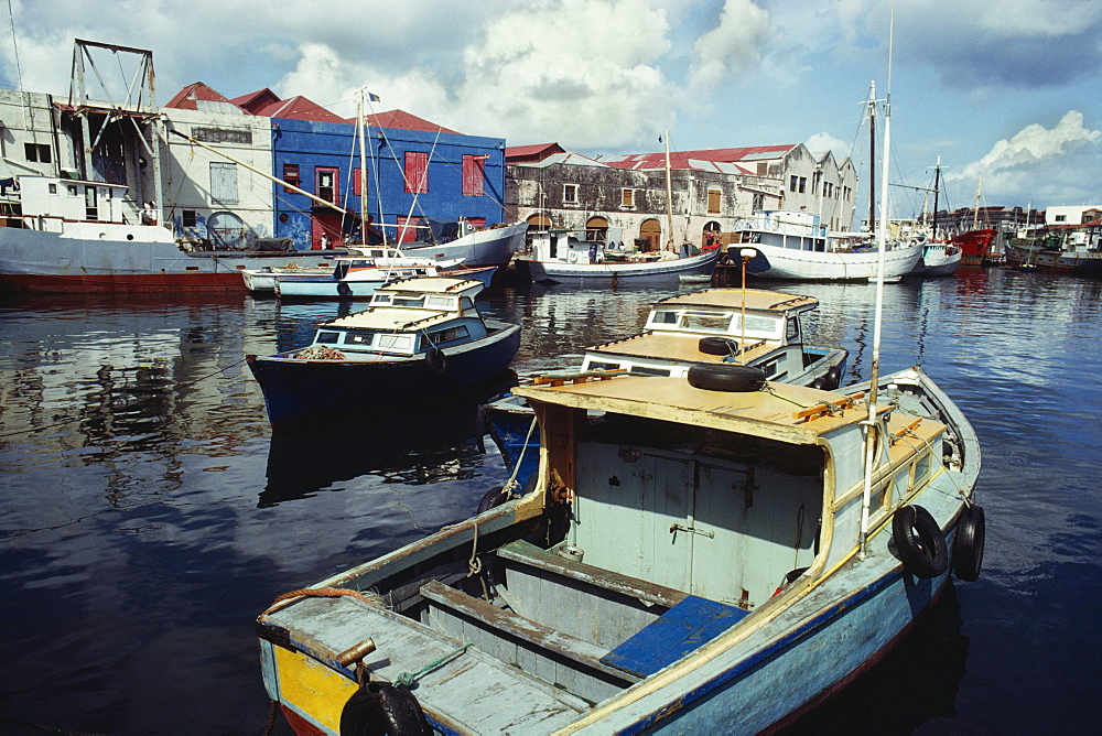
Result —
<instances>
[{"instance_id":1,"label":"white fishing boat moored before weathered stone warehouse with arched doors","mask_svg":"<svg viewBox=\"0 0 1102 736\"><path fill-rule=\"evenodd\" d=\"M695 250L624 252L590 241L570 230L547 230L532 236L527 255L516 259L517 273L528 281L557 283L677 282L682 275L711 274L720 258L717 247Z\"/></svg>"}]
</instances>

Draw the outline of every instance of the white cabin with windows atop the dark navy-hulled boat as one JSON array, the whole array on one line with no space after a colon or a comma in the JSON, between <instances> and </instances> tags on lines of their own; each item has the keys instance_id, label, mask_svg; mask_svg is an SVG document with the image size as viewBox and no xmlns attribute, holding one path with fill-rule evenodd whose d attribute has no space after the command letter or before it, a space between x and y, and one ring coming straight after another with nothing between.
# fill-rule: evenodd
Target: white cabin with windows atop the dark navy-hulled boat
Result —
<instances>
[{"instance_id":1,"label":"white cabin with windows atop the dark navy-hulled boat","mask_svg":"<svg viewBox=\"0 0 1102 736\"><path fill-rule=\"evenodd\" d=\"M348 360L381 360L480 339L488 334L474 303L482 289L480 281L444 278L380 286L363 312L320 325L306 350L320 346Z\"/></svg>"}]
</instances>

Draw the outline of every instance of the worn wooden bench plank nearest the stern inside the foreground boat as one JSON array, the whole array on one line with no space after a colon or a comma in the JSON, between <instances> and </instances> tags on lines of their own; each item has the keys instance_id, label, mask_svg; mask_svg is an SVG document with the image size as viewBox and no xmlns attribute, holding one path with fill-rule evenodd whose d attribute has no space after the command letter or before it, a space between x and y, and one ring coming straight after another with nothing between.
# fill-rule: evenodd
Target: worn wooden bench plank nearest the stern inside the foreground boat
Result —
<instances>
[{"instance_id":1,"label":"worn wooden bench plank nearest the stern inside the foreground boat","mask_svg":"<svg viewBox=\"0 0 1102 736\"><path fill-rule=\"evenodd\" d=\"M561 654L598 672L613 675L625 684L638 681L638 679L626 677L623 671L601 661L601 658L607 654L608 650L575 639L504 608L498 608L462 591L447 587L437 581L430 581L421 586L421 595L437 605L479 620L493 629Z\"/></svg>"}]
</instances>

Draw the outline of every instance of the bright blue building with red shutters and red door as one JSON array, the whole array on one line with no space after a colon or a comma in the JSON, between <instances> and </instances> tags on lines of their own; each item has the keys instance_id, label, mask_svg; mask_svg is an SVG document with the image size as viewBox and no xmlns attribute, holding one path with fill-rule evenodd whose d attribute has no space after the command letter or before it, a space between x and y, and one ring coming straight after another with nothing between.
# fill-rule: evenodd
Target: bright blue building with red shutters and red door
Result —
<instances>
[{"instance_id":1,"label":"bright blue building with red shutters and red door","mask_svg":"<svg viewBox=\"0 0 1102 736\"><path fill-rule=\"evenodd\" d=\"M368 117L364 140L369 241L428 239L426 218L503 221L504 139L463 136L396 110ZM276 176L345 210L276 185L276 236L298 249L359 241L360 161L355 122L273 117Z\"/></svg>"}]
</instances>

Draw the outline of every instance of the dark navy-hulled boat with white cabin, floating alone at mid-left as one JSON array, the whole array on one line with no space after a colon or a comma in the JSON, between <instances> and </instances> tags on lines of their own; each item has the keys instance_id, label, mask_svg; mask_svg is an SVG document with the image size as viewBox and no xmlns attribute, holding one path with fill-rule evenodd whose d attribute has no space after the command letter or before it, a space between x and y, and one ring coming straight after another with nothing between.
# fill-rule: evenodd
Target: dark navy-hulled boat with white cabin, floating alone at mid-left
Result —
<instances>
[{"instance_id":1,"label":"dark navy-hulled boat with white cabin, floating alone at mid-left","mask_svg":"<svg viewBox=\"0 0 1102 736\"><path fill-rule=\"evenodd\" d=\"M484 320L483 282L425 278L389 283L363 312L317 326L301 349L247 355L273 423L421 405L497 378L520 327Z\"/></svg>"}]
</instances>

